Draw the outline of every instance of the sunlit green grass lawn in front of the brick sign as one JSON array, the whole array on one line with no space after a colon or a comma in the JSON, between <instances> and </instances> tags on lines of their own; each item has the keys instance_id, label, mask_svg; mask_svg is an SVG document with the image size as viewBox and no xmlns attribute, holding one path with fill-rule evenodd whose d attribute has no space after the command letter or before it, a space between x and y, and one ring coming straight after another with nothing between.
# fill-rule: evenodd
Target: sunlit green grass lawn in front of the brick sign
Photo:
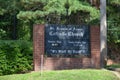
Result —
<instances>
[{"instance_id":1,"label":"sunlit green grass lawn in front of the brick sign","mask_svg":"<svg viewBox=\"0 0 120 80\"><path fill-rule=\"evenodd\" d=\"M80 69L0 76L0 80L120 80L107 70Z\"/></svg>"}]
</instances>

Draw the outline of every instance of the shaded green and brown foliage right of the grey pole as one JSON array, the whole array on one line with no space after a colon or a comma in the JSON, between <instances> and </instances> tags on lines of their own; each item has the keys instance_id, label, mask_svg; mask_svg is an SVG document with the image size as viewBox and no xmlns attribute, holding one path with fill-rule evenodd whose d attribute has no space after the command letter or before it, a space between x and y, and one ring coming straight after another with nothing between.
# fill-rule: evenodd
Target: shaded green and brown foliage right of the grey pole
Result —
<instances>
[{"instance_id":1,"label":"shaded green and brown foliage right of the grey pole","mask_svg":"<svg viewBox=\"0 0 120 80\"><path fill-rule=\"evenodd\" d=\"M108 58L120 64L120 0L107 2Z\"/></svg>"}]
</instances>

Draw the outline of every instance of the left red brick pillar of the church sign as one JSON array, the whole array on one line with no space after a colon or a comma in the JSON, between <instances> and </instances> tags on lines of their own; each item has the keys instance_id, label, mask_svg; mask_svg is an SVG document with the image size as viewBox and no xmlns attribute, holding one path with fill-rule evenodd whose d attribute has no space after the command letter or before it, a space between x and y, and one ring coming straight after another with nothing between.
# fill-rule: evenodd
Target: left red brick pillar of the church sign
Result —
<instances>
[{"instance_id":1,"label":"left red brick pillar of the church sign","mask_svg":"<svg viewBox=\"0 0 120 80\"><path fill-rule=\"evenodd\" d=\"M34 70L39 71L41 68L41 58L44 54L44 25L34 25L33 45Z\"/></svg>"}]
</instances>

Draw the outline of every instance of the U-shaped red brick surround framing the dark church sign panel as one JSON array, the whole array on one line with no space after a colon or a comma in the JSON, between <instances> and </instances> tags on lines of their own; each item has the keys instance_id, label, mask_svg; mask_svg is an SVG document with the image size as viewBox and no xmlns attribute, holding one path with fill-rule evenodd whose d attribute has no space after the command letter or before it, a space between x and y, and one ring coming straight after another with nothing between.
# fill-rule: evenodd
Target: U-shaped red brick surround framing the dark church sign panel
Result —
<instances>
[{"instance_id":1,"label":"U-shaped red brick surround framing the dark church sign panel","mask_svg":"<svg viewBox=\"0 0 120 80\"><path fill-rule=\"evenodd\" d=\"M79 68L100 68L100 28L90 27L91 57L48 58L44 55L44 25L34 25L34 70L60 70ZM42 67L41 67L42 66Z\"/></svg>"}]
</instances>

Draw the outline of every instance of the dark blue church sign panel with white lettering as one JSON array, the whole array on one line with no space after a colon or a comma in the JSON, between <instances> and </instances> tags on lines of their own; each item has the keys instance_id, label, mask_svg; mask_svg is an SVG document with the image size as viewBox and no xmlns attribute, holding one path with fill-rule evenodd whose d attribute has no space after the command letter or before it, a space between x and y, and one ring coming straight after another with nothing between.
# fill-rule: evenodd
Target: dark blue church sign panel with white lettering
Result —
<instances>
[{"instance_id":1,"label":"dark blue church sign panel with white lettering","mask_svg":"<svg viewBox=\"0 0 120 80\"><path fill-rule=\"evenodd\" d=\"M90 55L89 26L46 25L45 53L48 57Z\"/></svg>"}]
</instances>

